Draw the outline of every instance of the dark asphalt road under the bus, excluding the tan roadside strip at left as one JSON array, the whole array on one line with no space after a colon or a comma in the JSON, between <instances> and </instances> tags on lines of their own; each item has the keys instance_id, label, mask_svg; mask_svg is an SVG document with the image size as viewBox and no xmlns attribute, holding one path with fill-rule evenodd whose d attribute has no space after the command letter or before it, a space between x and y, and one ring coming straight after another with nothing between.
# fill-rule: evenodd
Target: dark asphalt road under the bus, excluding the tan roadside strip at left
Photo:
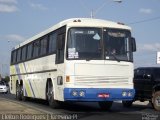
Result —
<instances>
[{"instance_id":1,"label":"dark asphalt road under the bus, excluding the tan roadside strip at left","mask_svg":"<svg viewBox=\"0 0 160 120\"><path fill-rule=\"evenodd\" d=\"M17 101L11 94L0 94L0 98L34 108L45 114L68 115L71 116L71 119L78 120L160 120L160 112L152 109L148 102L135 102L131 108L124 108L120 102L114 102L110 111L102 111L97 103L74 103L60 109L52 109L44 100ZM59 118L63 119L63 117ZM66 118L64 117L64 119Z\"/></svg>"}]
</instances>

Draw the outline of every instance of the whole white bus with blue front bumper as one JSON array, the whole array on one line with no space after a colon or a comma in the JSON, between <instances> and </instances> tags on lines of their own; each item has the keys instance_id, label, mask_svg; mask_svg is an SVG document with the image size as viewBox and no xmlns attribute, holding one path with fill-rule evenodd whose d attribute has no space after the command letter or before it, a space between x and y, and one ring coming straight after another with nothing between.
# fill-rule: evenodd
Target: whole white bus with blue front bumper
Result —
<instances>
[{"instance_id":1,"label":"whole white bus with blue front bumper","mask_svg":"<svg viewBox=\"0 0 160 120\"><path fill-rule=\"evenodd\" d=\"M18 100L128 105L134 98L131 28L111 21L73 18L14 47L10 90Z\"/></svg>"}]
</instances>

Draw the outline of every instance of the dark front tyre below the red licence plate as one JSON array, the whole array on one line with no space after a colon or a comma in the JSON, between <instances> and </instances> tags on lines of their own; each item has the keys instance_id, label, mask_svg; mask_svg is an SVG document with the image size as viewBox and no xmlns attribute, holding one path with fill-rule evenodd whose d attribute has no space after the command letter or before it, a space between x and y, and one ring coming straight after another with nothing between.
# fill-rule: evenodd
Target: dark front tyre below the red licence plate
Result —
<instances>
[{"instance_id":1,"label":"dark front tyre below the red licence plate","mask_svg":"<svg viewBox=\"0 0 160 120\"><path fill-rule=\"evenodd\" d=\"M101 101L98 103L102 110L110 110L110 108L112 107L113 101Z\"/></svg>"}]
</instances>

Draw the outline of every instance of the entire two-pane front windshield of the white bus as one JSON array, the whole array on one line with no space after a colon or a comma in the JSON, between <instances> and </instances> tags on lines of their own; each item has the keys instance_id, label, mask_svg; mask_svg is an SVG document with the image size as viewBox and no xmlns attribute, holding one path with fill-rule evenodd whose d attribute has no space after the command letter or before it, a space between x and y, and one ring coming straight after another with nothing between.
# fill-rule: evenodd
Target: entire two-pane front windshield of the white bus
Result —
<instances>
[{"instance_id":1,"label":"entire two-pane front windshield of the white bus","mask_svg":"<svg viewBox=\"0 0 160 120\"><path fill-rule=\"evenodd\" d=\"M127 30L71 28L67 59L133 61L130 38Z\"/></svg>"}]
</instances>

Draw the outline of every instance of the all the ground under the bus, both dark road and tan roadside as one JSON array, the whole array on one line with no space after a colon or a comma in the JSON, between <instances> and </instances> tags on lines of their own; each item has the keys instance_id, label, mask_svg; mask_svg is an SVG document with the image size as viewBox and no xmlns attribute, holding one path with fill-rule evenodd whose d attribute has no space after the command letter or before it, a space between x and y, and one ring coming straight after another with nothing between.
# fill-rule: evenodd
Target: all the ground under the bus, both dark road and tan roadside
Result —
<instances>
[{"instance_id":1,"label":"all the ground under the bus, both dark road and tan roadside","mask_svg":"<svg viewBox=\"0 0 160 120\"><path fill-rule=\"evenodd\" d=\"M131 108L124 108L120 102L115 102L110 111L102 111L97 103L76 103L52 109L43 100L22 102L15 100L14 95L0 94L0 117L10 120L4 119L4 114L18 115L19 120L160 120L160 112L154 111L148 102L135 102ZM30 119L22 119L21 115L29 115Z\"/></svg>"}]
</instances>

